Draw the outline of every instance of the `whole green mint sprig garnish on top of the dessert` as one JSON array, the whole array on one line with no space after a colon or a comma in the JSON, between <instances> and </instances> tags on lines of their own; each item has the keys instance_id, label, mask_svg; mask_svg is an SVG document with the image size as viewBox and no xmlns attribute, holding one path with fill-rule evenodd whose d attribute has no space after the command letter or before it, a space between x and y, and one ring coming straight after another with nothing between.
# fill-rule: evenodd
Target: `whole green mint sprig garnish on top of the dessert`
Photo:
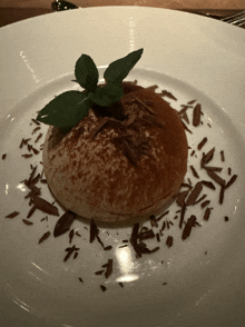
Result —
<instances>
[{"instance_id":1,"label":"whole green mint sprig garnish on top of the dessert","mask_svg":"<svg viewBox=\"0 0 245 327\"><path fill-rule=\"evenodd\" d=\"M143 49L139 49L111 62L104 73L104 86L98 85L99 72L94 60L81 54L75 66L75 77L85 90L71 90L57 96L39 112L37 120L68 131L88 115L94 103L110 107L118 102L124 96L121 82L141 54Z\"/></svg>"}]
</instances>

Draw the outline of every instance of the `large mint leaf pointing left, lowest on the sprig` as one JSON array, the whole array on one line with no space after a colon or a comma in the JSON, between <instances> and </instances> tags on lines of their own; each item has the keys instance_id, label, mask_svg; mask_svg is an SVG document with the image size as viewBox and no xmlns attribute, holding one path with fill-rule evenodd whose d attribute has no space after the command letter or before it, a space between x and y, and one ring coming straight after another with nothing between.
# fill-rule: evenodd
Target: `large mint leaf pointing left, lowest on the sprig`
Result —
<instances>
[{"instance_id":1,"label":"large mint leaf pointing left, lowest on the sprig","mask_svg":"<svg viewBox=\"0 0 245 327\"><path fill-rule=\"evenodd\" d=\"M70 128L88 115L90 105L86 93L67 91L46 105L37 120L59 128Z\"/></svg>"}]
</instances>

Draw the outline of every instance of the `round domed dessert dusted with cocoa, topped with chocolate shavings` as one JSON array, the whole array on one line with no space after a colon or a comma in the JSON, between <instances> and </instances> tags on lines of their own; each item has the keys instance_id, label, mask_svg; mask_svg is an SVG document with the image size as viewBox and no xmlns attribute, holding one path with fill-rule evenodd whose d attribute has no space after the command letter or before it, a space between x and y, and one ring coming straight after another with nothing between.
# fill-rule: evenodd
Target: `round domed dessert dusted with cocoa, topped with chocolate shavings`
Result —
<instances>
[{"instance_id":1,"label":"round domed dessert dusted with cocoa, topped with chocolate shavings","mask_svg":"<svg viewBox=\"0 0 245 327\"><path fill-rule=\"evenodd\" d=\"M68 210L104 221L143 219L169 204L187 170L180 118L151 89L124 82L110 108L94 107L68 133L50 127L43 169Z\"/></svg>"}]
</instances>

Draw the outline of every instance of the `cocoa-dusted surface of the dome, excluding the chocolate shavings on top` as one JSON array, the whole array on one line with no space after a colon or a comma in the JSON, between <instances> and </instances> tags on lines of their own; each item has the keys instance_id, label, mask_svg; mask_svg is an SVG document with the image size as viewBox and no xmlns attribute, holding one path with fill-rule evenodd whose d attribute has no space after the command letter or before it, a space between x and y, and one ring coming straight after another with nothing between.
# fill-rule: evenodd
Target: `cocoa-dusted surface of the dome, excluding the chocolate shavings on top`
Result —
<instances>
[{"instance_id":1,"label":"cocoa-dusted surface of the dome, excluding the chocolate shavings on top","mask_svg":"<svg viewBox=\"0 0 245 327\"><path fill-rule=\"evenodd\" d=\"M187 169L182 121L151 91L138 90L134 96L151 100L157 119L165 123L164 129L143 127L151 148L150 156L143 156L138 166L131 165L111 142L117 136L112 127L90 140L98 123L92 112L58 145L56 129L49 129L43 148L45 172L55 197L67 209L101 220L144 218L160 210L178 190ZM79 138L77 130L81 132Z\"/></svg>"}]
</instances>

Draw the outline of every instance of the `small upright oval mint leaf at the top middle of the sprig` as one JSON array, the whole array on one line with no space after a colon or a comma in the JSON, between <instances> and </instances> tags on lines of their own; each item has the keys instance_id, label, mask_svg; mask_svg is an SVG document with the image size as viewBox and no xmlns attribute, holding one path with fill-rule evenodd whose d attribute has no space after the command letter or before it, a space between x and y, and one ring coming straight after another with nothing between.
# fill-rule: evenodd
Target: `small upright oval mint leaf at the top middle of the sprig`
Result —
<instances>
[{"instance_id":1,"label":"small upright oval mint leaf at the top middle of the sprig","mask_svg":"<svg viewBox=\"0 0 245 327\"><path fill-rule=\"evenodd\" d=\"M92 92L97 88L99 80L99 72L94 60L87 56L81 54L75 66L76 81L88 92Z\"/></svg>"}]
</instances>

